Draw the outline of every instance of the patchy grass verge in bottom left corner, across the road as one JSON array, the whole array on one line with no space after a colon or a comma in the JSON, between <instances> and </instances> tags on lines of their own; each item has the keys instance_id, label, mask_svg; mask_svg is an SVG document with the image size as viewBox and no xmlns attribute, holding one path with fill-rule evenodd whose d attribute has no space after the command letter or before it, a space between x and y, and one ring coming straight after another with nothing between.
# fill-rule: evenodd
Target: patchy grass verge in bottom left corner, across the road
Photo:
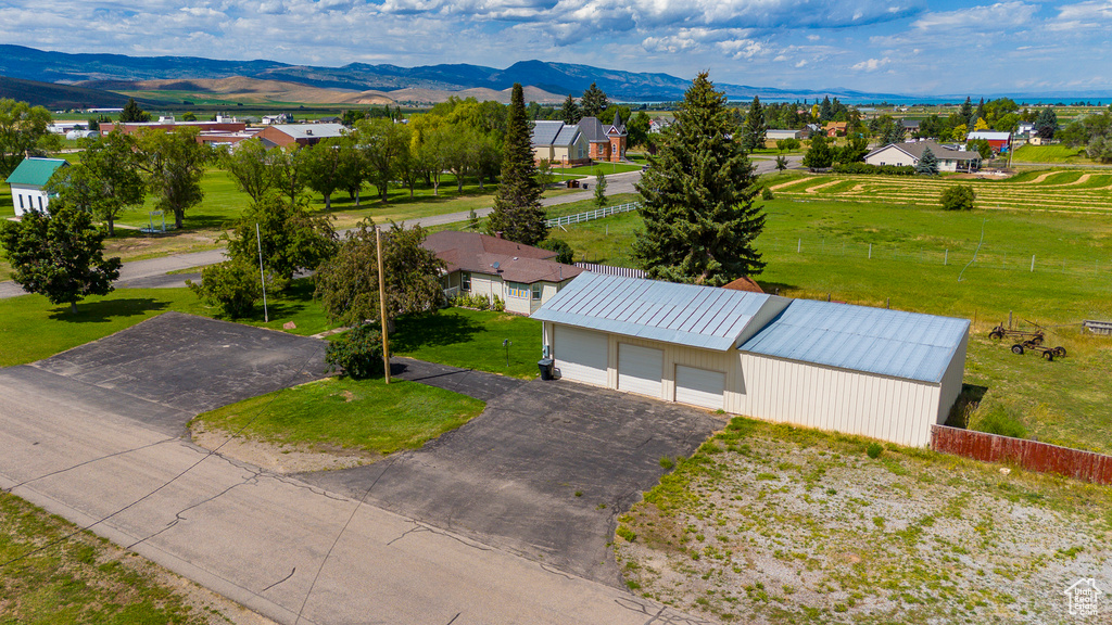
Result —
<instances>
[{"instance_id":1,"label":"patchy grass verge in bottom left corner, across the road","mask_svg":"<svg viewBox=\"0 0 1112 625\"><path fill-rule=\"evenodd\" d=\"M0 569L0 623L200 625L212 614L197 608L217 611L190 605L158 565L0 492L0 562L26 554Z\"/></svg>"}]
</instances>

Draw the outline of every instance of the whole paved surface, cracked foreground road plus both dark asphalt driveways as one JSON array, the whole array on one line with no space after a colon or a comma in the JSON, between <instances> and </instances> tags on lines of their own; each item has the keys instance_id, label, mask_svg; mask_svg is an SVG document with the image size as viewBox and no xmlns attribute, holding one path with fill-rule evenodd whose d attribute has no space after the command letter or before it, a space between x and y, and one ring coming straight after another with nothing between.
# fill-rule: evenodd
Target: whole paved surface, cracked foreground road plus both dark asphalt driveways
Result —
<instances>
[{"instance_id":1,"label":"whole paved surface, cracked foreground road plus both dark asphalt driveways","mask_svg":"<svg viewBox=\"0 0 1112 625\"><path fill-rule=\"evenodd\" d=\"M0 487L280 623L705 622L617 587L605 533L714 417L496 378L461 385L489 414L350 472L282 476L181 437L199 410L319 377L321 353L168 312L0 369ZM449 387L477 375L401 365Z\"/></svg>"}]
</instances>

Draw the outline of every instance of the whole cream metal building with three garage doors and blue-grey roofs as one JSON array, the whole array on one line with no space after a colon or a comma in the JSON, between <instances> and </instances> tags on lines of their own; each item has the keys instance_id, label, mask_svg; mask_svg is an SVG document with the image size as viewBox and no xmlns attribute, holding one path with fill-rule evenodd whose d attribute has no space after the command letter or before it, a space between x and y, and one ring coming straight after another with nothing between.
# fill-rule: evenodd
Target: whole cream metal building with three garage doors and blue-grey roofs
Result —
<instances>
[{"instance_id":1,"label":"whole cream metal building with three garage doors and blue-grey roofs","mask_svg":"<svg viewBox=\"0 0 1112 625\"><path fill-rule=\"evenodd\" d=\"M911 446L961 393L970 325L596 274L533 317L565 379Z\"/></svg>"}]
</instances>

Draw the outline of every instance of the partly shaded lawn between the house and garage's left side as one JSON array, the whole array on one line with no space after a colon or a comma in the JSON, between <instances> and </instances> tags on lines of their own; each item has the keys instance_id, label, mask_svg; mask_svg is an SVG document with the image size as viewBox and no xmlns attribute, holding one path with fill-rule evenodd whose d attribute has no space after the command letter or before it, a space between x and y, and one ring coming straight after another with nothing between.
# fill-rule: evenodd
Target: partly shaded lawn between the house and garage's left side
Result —
<instances>
[{"instance_id":1,"label":"partly shaded lawn between the house and garage's left side","mask_svg":"<svg viewBox=\"0 0 1112 625\"><path fill-rule=\"evenodd\" d=\"M506 348L509 340L509 366ZM447 308L430 317L401 318L390 351L430 363L532 379L540 359L540 321L528 317Z\"/></svg>"}]
</instances>

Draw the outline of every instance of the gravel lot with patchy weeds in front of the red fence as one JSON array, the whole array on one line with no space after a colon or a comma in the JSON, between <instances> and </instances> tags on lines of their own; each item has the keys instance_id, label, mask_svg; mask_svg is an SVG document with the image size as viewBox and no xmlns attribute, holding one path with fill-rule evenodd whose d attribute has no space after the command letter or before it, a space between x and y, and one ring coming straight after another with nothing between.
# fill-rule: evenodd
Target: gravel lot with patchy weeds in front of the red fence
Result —
<instances>
[{"instance_id":1,"label":"gravel lot with patchy weeds in front of the red fence","mask_svg":"<svg viewBox=\"0 0 1112 625\"><path fill-rule=\"evenodd\" d=\"M1112 622L1112 488L867 444L735 419L620 519L627 584L725 622Z\"/></svg>"}]
</instances>

